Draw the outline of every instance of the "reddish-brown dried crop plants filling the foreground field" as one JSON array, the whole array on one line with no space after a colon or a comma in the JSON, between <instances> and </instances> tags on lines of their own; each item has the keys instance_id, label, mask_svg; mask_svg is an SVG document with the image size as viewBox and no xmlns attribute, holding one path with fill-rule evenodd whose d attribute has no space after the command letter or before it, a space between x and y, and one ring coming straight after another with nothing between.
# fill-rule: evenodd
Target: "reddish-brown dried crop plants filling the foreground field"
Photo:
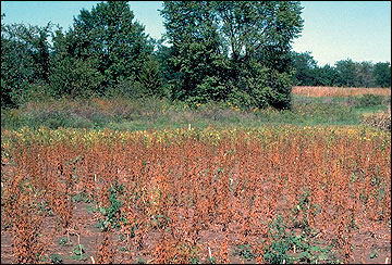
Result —
<instances>
[{"instance_id":1,"label":"reddish-brown dried crop plants filling the foreground field","mask_svg":"<svg viewBox=\"0 0 392 265\"><path fill-rule=\"evenodd\" d=\"M15 169L2 174L1 201L15 262L45 252L38 220L46 216L33 202L47 202L59 224L53 232L65 234L77 222L72 198L81 192L107 210L97 262L229 263L236 245L266 262L278 216L283 232L334 242L350 262L355 229L390 226L391 143L369 131L105 134L88 144L81 136L9 149ZM125 254L113 247L114 231Z\"/></svg>"}]
</instances>

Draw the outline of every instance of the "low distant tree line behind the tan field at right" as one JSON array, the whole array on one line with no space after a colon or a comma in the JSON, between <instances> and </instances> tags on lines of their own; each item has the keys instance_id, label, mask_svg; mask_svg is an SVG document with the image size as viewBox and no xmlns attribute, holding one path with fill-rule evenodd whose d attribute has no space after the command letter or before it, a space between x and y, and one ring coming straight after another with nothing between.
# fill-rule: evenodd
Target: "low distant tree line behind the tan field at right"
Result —
<instances>
[{"instance_id":1,"label":"low distant tree line behind the tan field at right","mask_svg":"<svg viewBox=\"0 0 392 265\"><path fill-rule=\"evenodd\" d=\"M292 52L296 86L391 87L390 62L338 61L320 67L310 52Z\"/></svg>"}]
</instances>

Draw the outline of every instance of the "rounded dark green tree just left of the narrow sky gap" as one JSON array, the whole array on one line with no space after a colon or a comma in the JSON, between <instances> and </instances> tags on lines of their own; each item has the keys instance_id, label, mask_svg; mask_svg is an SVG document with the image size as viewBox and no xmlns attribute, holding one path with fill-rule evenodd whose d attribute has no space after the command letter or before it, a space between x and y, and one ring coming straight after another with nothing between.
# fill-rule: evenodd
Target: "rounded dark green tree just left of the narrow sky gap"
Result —
<instances>
[{"instance_id":1,"label":"rounded dark green tree just left of the narrow sky gap","mask_svg":"<svg viewBox=\"0 0 392 265\"><path fill-rule=\"evenodd\" d=\"M144 33L144 26L133 20L130 4L124 1L98 3L74 18L72 51L77 59L98 62L102 89L114 86L120 78L136 77L149 60L152 40Z\"/></svg>"}]
</instances>

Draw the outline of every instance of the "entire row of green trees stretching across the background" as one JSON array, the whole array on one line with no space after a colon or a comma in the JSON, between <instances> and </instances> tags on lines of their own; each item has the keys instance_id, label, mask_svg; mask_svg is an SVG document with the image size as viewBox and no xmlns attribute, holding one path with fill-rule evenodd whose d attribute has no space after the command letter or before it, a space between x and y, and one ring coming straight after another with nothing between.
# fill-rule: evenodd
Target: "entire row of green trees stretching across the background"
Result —
<instances>
[{"instance_id":1,"label":"entire row of green trees stretching across the background","mask_svg":"<svg viewBox=\"0 0 392 265\"><path fill-rule=\"evenodd\" d=\"M2 23L1 106L48 97L155 96L189 105L289 109L293 85L324 85L332 76L309 53L291 51L303 29L302 9L298 1L166 1L159 40L123 1L81 10L65 30ZM383 71L372 66L375 84ZM336 73L342 86L357 81ZM355 73L369 80L366 71Z\"/></svg>"}]
</instances>

